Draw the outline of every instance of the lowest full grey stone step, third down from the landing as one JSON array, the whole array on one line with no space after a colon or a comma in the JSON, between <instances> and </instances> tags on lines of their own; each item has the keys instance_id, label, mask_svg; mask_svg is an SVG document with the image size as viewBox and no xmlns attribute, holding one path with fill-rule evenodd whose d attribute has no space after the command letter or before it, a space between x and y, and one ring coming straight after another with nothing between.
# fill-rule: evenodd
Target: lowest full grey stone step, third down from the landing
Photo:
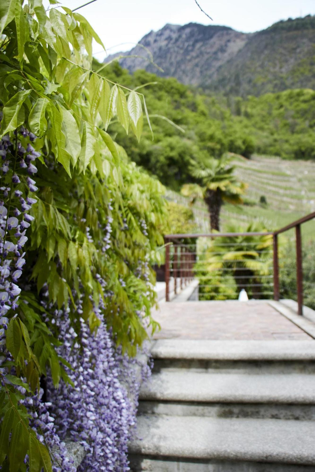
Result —
<instances>
[{"instance_id":1,"label":"lowest full grey stone step, third down from the landing","mask_svg":"<svg viewBox=\"0 0 315 472\"><path fill-rule=\"evenodd\" d=\"M142 459L151 457L161 460L163 464L167 461L181 463L183 460L186 464L199 461L203 465L211 465L211 461L230 461L233 464L243 461L311 465L313 469L310 470L315 470L314 436L314 421L148 415L138 418L136 439L131 441L129 452L133 457L138 456L135 459L139 467L142 467ZM186 469L164 470L197 469L193 465ZM221 470L228 472L233 469Z\"/></svg>"}]
</instances>

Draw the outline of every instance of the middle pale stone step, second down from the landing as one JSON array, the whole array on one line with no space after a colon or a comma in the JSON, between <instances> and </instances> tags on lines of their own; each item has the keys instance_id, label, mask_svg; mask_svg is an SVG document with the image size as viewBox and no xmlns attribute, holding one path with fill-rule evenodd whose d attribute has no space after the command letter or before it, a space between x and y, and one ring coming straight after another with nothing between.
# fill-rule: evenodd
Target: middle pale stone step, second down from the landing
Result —
<instances>
[{"instance_id":1,"label":"middle pale stone step, second down from the landing","mask_svg":"<svg viewBox=\"0 0 315 472\"><path fill-rule=\"evenodd\" d=\"M315 376L165 370L142 385L140 400L315 405Z\"/></svg>"}]
</instances>

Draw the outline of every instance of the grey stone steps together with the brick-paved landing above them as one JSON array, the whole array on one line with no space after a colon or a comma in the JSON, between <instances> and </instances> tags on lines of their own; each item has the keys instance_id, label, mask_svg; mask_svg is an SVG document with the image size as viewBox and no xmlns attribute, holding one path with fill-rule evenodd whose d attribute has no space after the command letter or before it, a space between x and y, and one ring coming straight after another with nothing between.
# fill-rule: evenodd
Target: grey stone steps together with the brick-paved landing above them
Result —
<instances>
[{"instance_id":1,"label":"grey stone steps together with the brick-paved landing above them","mask_svg":"<svg viewBox=\"0 0 315 472\"><path fill-rule=\"evenodd\" d=\"M160 303L131 470L315 471L315 312L294 309Z\"/></svg>"}]
</instances>

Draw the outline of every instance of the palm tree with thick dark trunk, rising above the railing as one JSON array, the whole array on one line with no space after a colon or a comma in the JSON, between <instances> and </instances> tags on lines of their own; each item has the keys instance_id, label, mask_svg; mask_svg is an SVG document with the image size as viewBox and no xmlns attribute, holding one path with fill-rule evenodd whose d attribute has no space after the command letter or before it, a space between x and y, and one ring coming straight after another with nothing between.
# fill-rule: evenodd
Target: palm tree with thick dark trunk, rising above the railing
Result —
<instances>
[{"instance_id":1,"label":"palm tree with thick dark trunk, rising above the railing","mask_svg":"<svg viewBox=\"0 0 315 472\"><path fill-rule=\"evenodd\" d=\"M220 210L223 202L242 203L246 185L238 182L234 175L235 166L230 166L231 158L223 155L219 159L210 158L206 164L193 162L191 176L193 184L185 184L182 194L194 202L201 198L208 206L211 231L220 230Z\"/></svg>"}]
</instances>

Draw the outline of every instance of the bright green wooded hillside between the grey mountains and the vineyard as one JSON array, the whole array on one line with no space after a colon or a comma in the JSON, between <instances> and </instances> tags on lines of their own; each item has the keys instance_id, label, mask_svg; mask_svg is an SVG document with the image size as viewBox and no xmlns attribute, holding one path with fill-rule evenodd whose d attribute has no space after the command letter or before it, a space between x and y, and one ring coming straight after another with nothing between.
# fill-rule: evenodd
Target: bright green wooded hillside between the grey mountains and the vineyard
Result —
<instances>
[{"instance_id":1,"label":"bright green wooded hillside between the grey mountains and the vineyard","mask_svg":"<svg viewBox=\"0 0 315 472\"><path fill-rule=\"evenodd\" d=\"M102 66L94 62L94 67ZM189 181L191 159L202 161L227 151L247 158L254 152L286 159L315 158L312 90L269 93L243 100L199 93L174 78L145 71L131 75L117 62L100 73L130 88L147 84L138 90L146 99L153 142L147 124L140 143L115 123L110 128L132 160L175 190Z\"/></svg>"}]
</instances>

